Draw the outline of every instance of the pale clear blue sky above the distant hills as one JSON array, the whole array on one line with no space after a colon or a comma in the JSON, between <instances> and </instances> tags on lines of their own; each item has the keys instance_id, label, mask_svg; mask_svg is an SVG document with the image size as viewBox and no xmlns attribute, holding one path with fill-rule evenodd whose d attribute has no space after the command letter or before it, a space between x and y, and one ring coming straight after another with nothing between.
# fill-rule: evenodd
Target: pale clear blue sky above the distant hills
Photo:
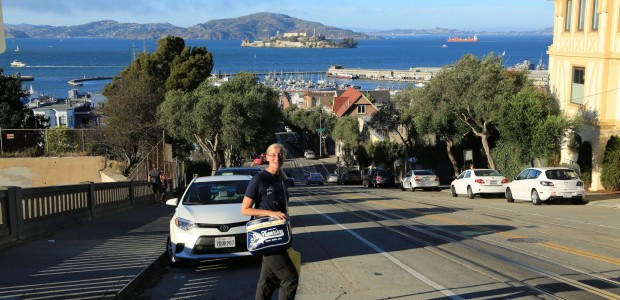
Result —
<instances>
[{"instance_id":1,"label":"pale clear blue sky above the distant hills","mask_svg":"<svg viewBox=\"0 0 620 300\"><path fill-rule=\"evenodd\" d=\"M189 27L257 12L359 30L542 29L551 0L1 0L6 24L70 26L94 21Z\"/></svg>"}]
</instances>

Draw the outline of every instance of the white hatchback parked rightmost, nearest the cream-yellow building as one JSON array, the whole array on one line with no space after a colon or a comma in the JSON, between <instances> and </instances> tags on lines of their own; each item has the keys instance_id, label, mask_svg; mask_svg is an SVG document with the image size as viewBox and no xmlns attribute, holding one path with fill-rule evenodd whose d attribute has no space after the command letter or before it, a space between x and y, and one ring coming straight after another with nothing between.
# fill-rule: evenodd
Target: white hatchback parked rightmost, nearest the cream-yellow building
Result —
<instances>
[{"instance_id":1,"label":"white hatchback parked rightmost, nearest the cream-yellow building","mask_svg":"<svg viewBox=\"0 0 620 300\"><path fill-rule=\"evenodd\" d=\"M506 200L532 201L540 205L553 199L571 199L581 203L586 191L577 172L564 167L527 168L506 185Z\"/></svg>"}]
</instances>

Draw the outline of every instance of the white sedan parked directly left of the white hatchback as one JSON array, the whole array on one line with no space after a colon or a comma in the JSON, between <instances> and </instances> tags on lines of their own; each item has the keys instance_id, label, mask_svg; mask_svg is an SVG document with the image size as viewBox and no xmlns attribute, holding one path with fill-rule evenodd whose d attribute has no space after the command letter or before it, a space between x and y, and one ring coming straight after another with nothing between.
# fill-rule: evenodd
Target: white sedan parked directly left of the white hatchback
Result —
<instances>
[{"instance_id":1,"label":"white sedan parked directly left of the white hatchback","mask_svg":"<svg viewBox=\"0 0 620 300\"><path fill-rule=\"evenodd\" d=\"M463 171L450 184L452 197L466 194L474 199L480 194L503 194L508 179L493 169L471 169Z\"/></svg>"}]
</instances>

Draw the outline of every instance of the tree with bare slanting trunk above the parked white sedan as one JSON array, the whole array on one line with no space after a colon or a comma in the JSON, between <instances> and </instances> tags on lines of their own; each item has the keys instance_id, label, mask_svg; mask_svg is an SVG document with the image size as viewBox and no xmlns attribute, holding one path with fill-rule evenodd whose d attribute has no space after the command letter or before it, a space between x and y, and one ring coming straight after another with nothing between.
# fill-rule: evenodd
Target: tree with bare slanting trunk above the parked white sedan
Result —
<instances>
[{"instance_id":1,"label":"tree with bare slanting trunk above the parked white sedan","mask_svg":"<svg viewBox=\"0 0 620 300\"><path fill-rule=\"evenodd\" d=\"M444 68L439 85L455 117L479 137L490 168L495 168L489 135L499 121L499 109L528 81L521 71L507 71L501 56L490 53L482 60L464 55L455 65Z\"/></svg>"}]
</instances>

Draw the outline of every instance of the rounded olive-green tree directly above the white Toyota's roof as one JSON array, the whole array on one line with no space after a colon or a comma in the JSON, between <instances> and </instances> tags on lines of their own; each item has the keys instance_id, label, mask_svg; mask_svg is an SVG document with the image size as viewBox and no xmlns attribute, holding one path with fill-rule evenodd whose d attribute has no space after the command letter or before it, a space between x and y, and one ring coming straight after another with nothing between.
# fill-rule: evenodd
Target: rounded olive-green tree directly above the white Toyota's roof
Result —
<instances>
[{"instance_id":1,"label":"rounded olive-green tree directly above the white Toyota's roof","mask_svg":"<svg viewBox=\"0 0 620 300\"><path fill-rule=\"evenodd\" d=\"M158 116L173 137L198 144L212 162L212 174L234 158L256 153L273 142L282 120L277 93L250 73L239 73L220 87L205 81L194 91L166 94Z\"/></svg>"}]
</instances>

